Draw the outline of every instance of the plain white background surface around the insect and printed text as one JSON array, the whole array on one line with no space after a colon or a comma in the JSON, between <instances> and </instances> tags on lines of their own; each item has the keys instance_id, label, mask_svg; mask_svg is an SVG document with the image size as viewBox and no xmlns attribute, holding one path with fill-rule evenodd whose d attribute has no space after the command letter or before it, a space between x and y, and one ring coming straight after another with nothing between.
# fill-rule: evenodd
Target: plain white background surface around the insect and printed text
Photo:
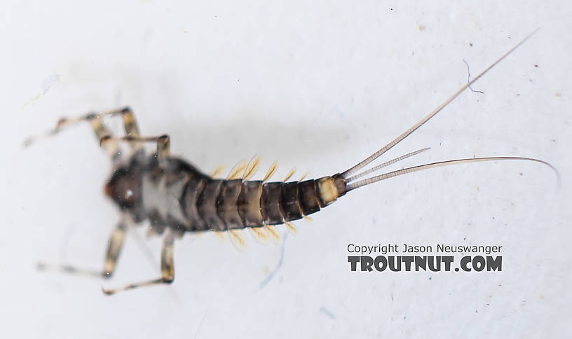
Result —
<instances>
[{"instance_id":1,"label":"plain white background surface around the insect and printed text","mask_svg":"<svg viewBox=\"0 0 572 339\"><path fill-rule=\"evenodd\" d=\"M461 2L461 1L458 1ZM6 338L563 338L571 334L571 36L568 1L4 1L0 321ZM23 150L61 116L130 105L143 134L205 172L254 154L322 177L346 170L540 31L385 159L395 168L519 155L390 179L247 251L212 235L131 234L109 281L38 272L100 269L118 213L88 125ZM472 46L471 46L472 44ZM535 67L538 65L538 67ZM116 130L120 124L110 121ZM285 231L282 227L281 230ZM145 227L137 229L144 237ZM249 236L250 237L250 236ZM350 272L348 244L497 244L503 272ZM456 258L460 258L457 256Z\"/></svg>"}]
</instances>

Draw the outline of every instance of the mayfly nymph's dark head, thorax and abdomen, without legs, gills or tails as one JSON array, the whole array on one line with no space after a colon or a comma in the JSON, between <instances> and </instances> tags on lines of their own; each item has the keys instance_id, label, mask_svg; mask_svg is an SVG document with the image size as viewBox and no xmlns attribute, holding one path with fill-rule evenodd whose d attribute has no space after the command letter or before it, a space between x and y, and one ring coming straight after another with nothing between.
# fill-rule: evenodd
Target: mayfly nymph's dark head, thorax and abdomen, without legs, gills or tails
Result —
<instances>
[{"instance_id":1,"label":"mayfly nymph's dark head, thorax and abdomen, without legs, gills or tails","mask_svg":"<svg viewBox=\"0 0 572 339\"><path fill-rule=\"evenodd\" d=\"M337 184L337 186L336 186ZM136 222L158 233L272 226L318 212L345 194L343 178L291 182L213 179L179 158L135 154L105 192Z\"/></svg>"}]
</instances>

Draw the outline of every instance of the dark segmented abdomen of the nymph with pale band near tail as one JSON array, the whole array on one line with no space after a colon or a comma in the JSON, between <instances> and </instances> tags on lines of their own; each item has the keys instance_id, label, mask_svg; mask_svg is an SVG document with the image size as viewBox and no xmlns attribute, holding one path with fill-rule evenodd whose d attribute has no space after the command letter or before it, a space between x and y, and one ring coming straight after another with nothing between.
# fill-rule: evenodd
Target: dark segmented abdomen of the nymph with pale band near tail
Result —
<instances>
[{"instance_id":1,"label":"dark segmented abdomen of the nymph with pale band near tail","mask_svg":"<svg viewBox=\"0 0 572 339\"><path fill-rule=\"evenodd\" d=\"M345 190L344 190L345 193ZM189 179L181 207L189 231L278 225L320 211L338 198L333 177L284 182Z\"/></svg>"}]
</instances>

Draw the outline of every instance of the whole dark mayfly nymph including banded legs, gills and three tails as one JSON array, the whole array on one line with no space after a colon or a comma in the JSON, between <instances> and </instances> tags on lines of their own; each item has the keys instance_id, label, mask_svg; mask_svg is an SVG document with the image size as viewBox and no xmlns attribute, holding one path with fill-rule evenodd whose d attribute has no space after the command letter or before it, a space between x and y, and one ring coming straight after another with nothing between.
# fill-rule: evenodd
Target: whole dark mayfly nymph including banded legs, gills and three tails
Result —
<instances>
[{"instance_id":1,"label":"whole dark mayfly nymph including banded legs, gills and three tails","mask_svg":"<svg viewBox=\"0 0 572 339\"><path fill-rule=\"evenodd\" d=\"M67 125L89 121L100 139L101 146L109 153L114 163L114 172L104 191L121 209L123 218L111 235L104 270L100 275L109 277L114 272L118 254L125 238L125 230L130 224L149 220L153 233L165 233L161 251L161 278L139 284L130 284L121 289L104 289L104 292L111 294L137 286L172 282L175 279L173 243L176 236L181 236L186 232L228 232L233 242L238 244L244 242L243 235L240 233L243 228L252 230L257 237L268 235L276 237L278 233L275 230L275 225L286 224L289 228L293 228L290 221L320 211L349 191L398 175L443 165L489 160L531 160L548 165L556 171L552 165L543 160L521 157L490 157L434 162L360 179L382 167L428 149L423 148L356 174L409 136L418 127L421 127L430 118L433 118L449 102L472 83L475 83L500 60L512 53L524 41L505 53L503 57L500 57L472 81L469 81L437 107L435 111L425 116L379 151L349 170L320 179L290 182L285 179L284 181L268 182L275 170L275 165L273 165L264 180L248 181L257 170L257 160L248 165L236 167L226 179L214 179L214 176L200 172L189 162L172 157L169 152L170 138L168 135L160 137L140 136L134 115L128 108L107 113L91 113L76 119L60 120L55 130L50 131L49 135L59 132L62 127ZM112 137L107 127L104 126L102 120L104 116L121 116L126 136ZM27 144L32 141L34 139L29 139ZM129 158L123 158L123 153L120 152L119 148L120 141L125 141L130 146L132 154ZM149 141L156 143L157 146L156 153L152 155L146 155L143 147L143 143ZM76 268L69 266L60 268L79 272Z\"/></svg>"}]
</instances>

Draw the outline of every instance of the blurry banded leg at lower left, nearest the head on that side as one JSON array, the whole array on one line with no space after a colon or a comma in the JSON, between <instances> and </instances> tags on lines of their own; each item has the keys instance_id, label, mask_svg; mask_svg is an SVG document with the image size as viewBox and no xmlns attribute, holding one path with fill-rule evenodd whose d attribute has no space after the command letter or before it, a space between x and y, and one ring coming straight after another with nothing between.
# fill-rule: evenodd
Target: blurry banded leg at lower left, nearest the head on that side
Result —
<instances>
[{"instance_id":1,"label":"blurry banded leg at lower left, nearest the head on that side","mask_svg":"<svg viewBox=\"0 0 572 339\"><path fill-rule=\"evenodd\" d=\"M38 263L37 268L39 270L56 270L65 273L71 273L74 275L88 275L92 277L111 277L115 270L115 265L117 263L117 258L121 252L121 247L123 247L123 241L125 240L125 231L127 227L124 221L121 221L113 233L111 233L111 238L109 239L109 246L107 247L107 256L105 258L104 269L100 272L93 270L84 270L83 268L76 268L71 265L48 265L46 263Z\"/></svg>"}]
</instances>

